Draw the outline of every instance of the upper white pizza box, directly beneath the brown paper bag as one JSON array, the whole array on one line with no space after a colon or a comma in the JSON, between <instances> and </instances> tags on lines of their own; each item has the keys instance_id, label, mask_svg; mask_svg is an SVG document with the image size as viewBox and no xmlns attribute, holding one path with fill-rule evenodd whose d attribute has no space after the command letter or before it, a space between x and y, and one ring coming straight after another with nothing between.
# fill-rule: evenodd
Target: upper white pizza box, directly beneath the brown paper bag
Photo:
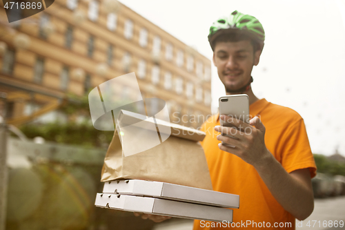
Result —
<instances>
[{"instance_id":1,"label":"upper white pizza box, directly beneath the brown paper bag","mask_svg":"<svg viewBox=\"0 0 345 230\"><path fill-rule=\"evenodd\" d=\"M215 207L239 208L239 195L147 180L112 180L105 182L103 193L140 195Z\"/></svg>"}]
</instances>

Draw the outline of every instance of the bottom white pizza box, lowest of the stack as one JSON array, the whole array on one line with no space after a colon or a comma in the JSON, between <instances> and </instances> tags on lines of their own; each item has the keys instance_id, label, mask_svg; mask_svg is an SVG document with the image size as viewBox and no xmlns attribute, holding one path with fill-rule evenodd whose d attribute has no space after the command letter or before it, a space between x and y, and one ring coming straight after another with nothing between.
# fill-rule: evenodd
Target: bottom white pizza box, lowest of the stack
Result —
<instances>
[{"instance_id":1,"label":"bottom white pizza box, lowest of the stack","mask_svg":"<svg viewBox=\"0 0 345 230\"><path fill-rule=\"evenodd\" d=\"M97 193L95 205L101 208L175 218L233 222L232 209L136 195Z\"/></svg>"}]
</instances>

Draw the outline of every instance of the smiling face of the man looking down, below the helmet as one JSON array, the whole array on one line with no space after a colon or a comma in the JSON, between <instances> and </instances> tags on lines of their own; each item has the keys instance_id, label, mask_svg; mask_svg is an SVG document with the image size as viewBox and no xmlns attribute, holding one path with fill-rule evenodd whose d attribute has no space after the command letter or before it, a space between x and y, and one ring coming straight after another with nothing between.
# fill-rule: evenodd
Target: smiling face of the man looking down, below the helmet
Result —
<instances>
[{"instance_id":1,"label":"smiling face of the man looking down, below the helmet","mask_svg":"<svg viewBox=\"0 0 345 230\"><path fill-rule=\"evenodd\" d=\"M213 63L226 92L238 90L248 84L253 66L259 64L260 53L253 52L250 40L217 42Z\"/></svg>"}]
</instances>

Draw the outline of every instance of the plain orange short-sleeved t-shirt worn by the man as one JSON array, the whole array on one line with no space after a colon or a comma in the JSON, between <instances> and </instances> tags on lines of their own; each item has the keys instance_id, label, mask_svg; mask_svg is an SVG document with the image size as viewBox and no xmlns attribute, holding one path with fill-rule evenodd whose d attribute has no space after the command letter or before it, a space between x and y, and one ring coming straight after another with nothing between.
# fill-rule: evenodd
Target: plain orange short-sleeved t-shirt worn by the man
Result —
<instances>
[{"instance_id":1,"label":"plain orange short-sleeved t-shirt worn by the man","mask_svg":"<svg viewBox=\"0 0 345 230\"><path fill-rule=\"evenodd\" d=\"M288 173L308 168L312 178L316 175L304 121L297 112L260 99L250 105L250 115L259 115L266 128L266 147ZM275 200L254 167L218 148L220 141L216 138L219 135L214 130L216 125L219 125L219 115L211 117L201 126L201 131L206 133L201 145L210 169L213 189L239 195L239 209L233 209L232 228L237 224L237 229L263 229L267 225L260 227L259 223L270 222L270 227L274 227L276 222L281 224L278 226L280 229L295 229L295 218ZM247 221L256 222L257 225L244 225L244 222L249 223ZM290 222L290 227L282 227L285 222ZM194 229L226 229L228 225L231 228L231 224L219 224L195 220Z\"/></svg>"}]
</instances>

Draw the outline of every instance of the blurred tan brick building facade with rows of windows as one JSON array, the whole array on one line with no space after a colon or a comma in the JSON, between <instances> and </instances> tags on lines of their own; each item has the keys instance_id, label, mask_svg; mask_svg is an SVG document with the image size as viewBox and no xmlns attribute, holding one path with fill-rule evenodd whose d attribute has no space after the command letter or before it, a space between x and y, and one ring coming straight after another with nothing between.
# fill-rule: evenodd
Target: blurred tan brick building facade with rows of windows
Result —
<instances>
[{"instance_id":1,"label":"blurred tan brick building facade with rows of windows","mask_svg":"<svg viewBox=\"0 0 345 230\"><path fill-rule=\"evenodd\" d=\"M10 121L57 119L63 115L52 111L67 94L86 95L131 72L143 97L166 101L172 122L197 128L204 119L182 115L210 115L210 60L117 1L59 0L10 26L4 11L0 17L0 91ZM117 94L139 97L126 82Z\"/></svg>"}]
</instances>

